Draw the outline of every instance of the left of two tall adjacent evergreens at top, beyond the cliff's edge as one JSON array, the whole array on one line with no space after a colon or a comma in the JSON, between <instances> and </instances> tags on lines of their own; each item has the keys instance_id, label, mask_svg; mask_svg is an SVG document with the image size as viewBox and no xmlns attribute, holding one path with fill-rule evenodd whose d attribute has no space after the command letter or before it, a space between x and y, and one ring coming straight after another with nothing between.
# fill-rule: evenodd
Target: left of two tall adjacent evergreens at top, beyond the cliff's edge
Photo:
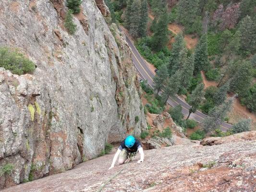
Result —
<instances>
[{"instance_id":1,"label":"left of two tall adjacent evergreens at top, beyond the cliff's edge","mask_svg":"<svg viewBox=\"0 0 256 192\"><path fill-rule=\"evenodd\" d=\"M140 11L140 0L134 0L131 7L131 16L130 16L130 27L129 33L131 36L137 38L139 37L139 25L140 25L140 16L138 15Z\"/></svg>"}]
</instances>

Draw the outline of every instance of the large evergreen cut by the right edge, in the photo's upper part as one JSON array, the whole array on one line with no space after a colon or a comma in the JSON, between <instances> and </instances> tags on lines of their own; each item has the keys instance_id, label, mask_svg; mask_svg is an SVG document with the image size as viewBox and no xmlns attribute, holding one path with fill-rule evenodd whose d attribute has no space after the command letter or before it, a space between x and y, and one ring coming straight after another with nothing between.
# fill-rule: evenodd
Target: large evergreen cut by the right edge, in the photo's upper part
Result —
<instances>
[{"instance_id":1,"label":"large evergreen cut by the right edge, in the photo's upper part","mask_svg":"<svg viewBox=\"0 0 256 192\"><path fill-rule=\"evenodd\" d=\"M247 15L241 20L238 30L241 33L240 43L242 50L250 52L256 50L256 23L250 16Z\"/></svg>"}]
</instances>

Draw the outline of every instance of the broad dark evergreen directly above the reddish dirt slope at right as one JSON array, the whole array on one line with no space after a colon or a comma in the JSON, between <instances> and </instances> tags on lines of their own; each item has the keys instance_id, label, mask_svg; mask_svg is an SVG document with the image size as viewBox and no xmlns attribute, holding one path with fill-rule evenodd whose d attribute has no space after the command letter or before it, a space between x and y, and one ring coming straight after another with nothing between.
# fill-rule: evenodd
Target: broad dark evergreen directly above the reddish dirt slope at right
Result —
<instances>
[{"instance_id":1,"label":"broad dark evergreen directly above the reddish dirt slope at right","mask_svg":"<svg viewBox=\"0 0 256 192\"><path fill-rule=\"evenodd\" d=\"M248 91L252 81L252 64L250 61L242 62L236 72L232 75L230 84L231 91L237 93L239 96L244 96Z\"/></svg>"}]
</instances>

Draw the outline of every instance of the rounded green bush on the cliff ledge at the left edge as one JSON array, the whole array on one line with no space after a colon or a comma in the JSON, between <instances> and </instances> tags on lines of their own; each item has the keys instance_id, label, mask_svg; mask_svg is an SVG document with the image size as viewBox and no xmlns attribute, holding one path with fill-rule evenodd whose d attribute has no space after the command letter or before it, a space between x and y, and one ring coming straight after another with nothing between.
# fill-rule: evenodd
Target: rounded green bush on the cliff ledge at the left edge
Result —
<instances>
[{"instance_id":1,"label":"rounded green bush on the cliff ledge at the left edge","mask_svg":"<svg viewBox=\"0 0 256 192\"><path fill-rule=\"evenodd\" d=\"M25 58L17 49L5 47L0 47L0 67L18 75L35 71L35 64L31 60Z\"/></svg>"}]
</instances>

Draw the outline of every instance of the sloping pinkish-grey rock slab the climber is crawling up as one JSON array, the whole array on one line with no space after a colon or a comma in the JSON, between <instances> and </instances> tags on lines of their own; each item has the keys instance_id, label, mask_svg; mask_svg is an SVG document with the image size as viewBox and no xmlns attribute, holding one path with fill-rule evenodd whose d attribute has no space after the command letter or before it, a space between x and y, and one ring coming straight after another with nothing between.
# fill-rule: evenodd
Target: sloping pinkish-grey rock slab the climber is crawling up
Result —
<instances>
[{"instance_id":1,"label":"sloping pinkish-grey rock slab the climber is crawling up","mask_svg":"<svg viewBox=\"0 0 256 192\"><path fill-rule=\"evenodd\" d=\"M218 145L173 145L145 151L126 165L108 170L113 154L78 165L58 175L21 184L2 192L96 192L126 166L102 192L255 192L256 132L244 140L222 138Z\"/></svg>"}]
</instances>

